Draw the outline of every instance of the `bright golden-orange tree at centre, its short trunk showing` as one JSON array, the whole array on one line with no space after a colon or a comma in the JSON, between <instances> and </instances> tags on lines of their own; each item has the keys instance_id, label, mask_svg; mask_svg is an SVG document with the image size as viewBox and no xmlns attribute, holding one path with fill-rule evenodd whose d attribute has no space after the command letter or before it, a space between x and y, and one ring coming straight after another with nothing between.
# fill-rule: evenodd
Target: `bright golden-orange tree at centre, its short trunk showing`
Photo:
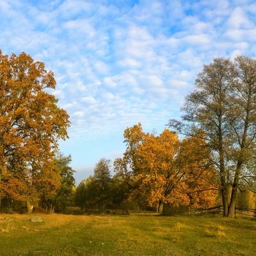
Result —
<instances>
[{"instance_id":1,"label":"bright golden-orange tree at centre, its short trunk showing","mask_svg":"<svg viewBox=\"0 0 256 256\"><path fill-rule=\"evenodd\" d=\"M186 195L179 193L181 190L175 191L183 183L175 160L179 150L177 134L164 129L156 136L143 132L139 123L125 129L124 138L127 149L123 158L115 160L114 168L127 180L130 198L143 196L148 205L157 205L159 213L163 212L164 203L186 199Z\"/></svg>"}]
</instances>

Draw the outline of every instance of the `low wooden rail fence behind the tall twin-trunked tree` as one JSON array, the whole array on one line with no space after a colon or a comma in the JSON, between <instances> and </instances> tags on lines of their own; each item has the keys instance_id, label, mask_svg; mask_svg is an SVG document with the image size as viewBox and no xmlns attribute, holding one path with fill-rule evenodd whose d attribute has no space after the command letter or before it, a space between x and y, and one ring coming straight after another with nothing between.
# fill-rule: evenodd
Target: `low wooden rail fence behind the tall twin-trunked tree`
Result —
<instances>
[{"instance_id":1,"label":"low wooden rail fence behind the tall twin-trunked tree","mask_svg":"<svg viewBox=\"0 0 256 256\"><path fill-rule=\"evenodd\" d=\"M223 207L222 205L218 205L216 207L211 207L208 209L203 208L197 208L197 209L191 209L191 212L193 213L217 213L217 214L223 214ZM244 209L236 207L236 216L251 216L256 217L256 209Z\"/></svg>"}]
</instances>

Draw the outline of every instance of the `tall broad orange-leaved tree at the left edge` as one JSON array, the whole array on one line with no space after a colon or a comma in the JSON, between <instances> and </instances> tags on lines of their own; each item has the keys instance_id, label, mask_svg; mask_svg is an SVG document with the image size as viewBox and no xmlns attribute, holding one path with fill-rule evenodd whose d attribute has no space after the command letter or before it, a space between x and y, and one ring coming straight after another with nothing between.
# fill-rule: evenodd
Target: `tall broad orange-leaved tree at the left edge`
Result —
<instances>
[{"instance_id":1,"label":"tall broad orange-leaved tree at the left edge","mask_svg":"<svg viewBox=\"0 0 256 256\"><path fill-rule=\"evenodd\" d=\"M25 52L0 51L0 195L28 202L28 210L40 194L60 186L53 159L70 122L45 91L55 85L44 63Z\"/></svg>"}]
</instances>

